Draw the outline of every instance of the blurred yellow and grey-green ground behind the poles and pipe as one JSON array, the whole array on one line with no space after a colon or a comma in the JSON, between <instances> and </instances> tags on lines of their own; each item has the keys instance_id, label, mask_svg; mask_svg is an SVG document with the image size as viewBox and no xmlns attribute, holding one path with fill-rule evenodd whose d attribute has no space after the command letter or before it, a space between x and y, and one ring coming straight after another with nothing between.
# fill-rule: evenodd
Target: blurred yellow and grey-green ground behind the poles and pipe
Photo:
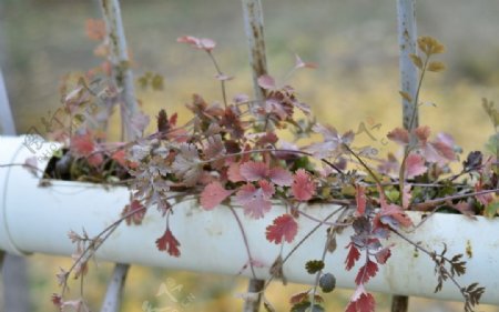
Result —
<instances>
[{"instance_id":1,"label":"blurred yellow and grey-green ground behind the poles and pipe","mask_svg":"<svg viewBox=\"0 0 499 312\"><path fill-rule=\"evenodd\" d=\"M318 69L297 72L286 82L312 105L319 121L339 130L356 130L363 121L375 121L381 123L374 133L378 140L400 124L395 1L264 0L263 7L271 73L282 81L294 64L294 53L318 64ZM192 93L208 102L221 99L210 60L175 42L183 34L216 40L221 67L236 78L228 82L228 94L251 94L240 1L128 0L122 1L122 11L136 76L152 70L165 78L163 91L139 91L149 114L166 108L179 110L185 120L183 104ZM492 130L481 98L499 101L498 16L497 0L417 1L418 32L446 44L447 52L439 60L448 67L444 73L428 74L421 99L437 107L424 107L420 121L435 133L452 133L465 152L481 149ZM65 73L99 64L92 54L95 42L86 39L84 30L88 18L99 17L98 1L2 0L0 66L19 132L30 127L42 129L41 118L50 117L60 104L58 89ZM386 152L379 142L370 143ZM34 255L30 265L32 311L53 311L49 299L57 291L54 274L69 261ZM94 310L109 269L106 264L93 268L86 283L85 294ZM155 296L166 281L183 286L179 300L190 294L195 298L182 310L176 306L179 311L241 311L241 300L234 294L244 292L243 279L139 266L129 276L123 311L140 311L144 301L175 306ZM278 311L287 311L289 295L304 289L291 285L283 291L276 284L268 298ZM336 291L326 295L327 311L342 311L350 294ZM389 298L380 294L377 300L377 311L388 311ZM413 299L409 310L462 309L460 303ZM499 309L482 306L480 311Z\"/></svg>"}]
</instances>

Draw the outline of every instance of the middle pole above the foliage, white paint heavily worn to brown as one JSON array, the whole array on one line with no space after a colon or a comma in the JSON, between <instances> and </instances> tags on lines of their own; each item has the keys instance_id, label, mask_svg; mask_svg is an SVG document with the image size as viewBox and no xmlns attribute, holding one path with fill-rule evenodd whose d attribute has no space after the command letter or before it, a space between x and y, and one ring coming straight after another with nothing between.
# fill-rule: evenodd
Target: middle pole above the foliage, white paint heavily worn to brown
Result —
<instances>
[{"instance_id":1,"label":"middle pole above the foliage, white paint heavily worn to brown","mask_svg":"<svg viewBox=\"0 0 499 312\"><path fill-rule=\"evenodd\" d=\"M249 66L253 72L253 88L256 101L262 103L265 99L265 90L259 88L257 79L267 73L262 2L259 0L242 0L242 2L244 29L249 50Z\"/></svg>"}]
</instances>

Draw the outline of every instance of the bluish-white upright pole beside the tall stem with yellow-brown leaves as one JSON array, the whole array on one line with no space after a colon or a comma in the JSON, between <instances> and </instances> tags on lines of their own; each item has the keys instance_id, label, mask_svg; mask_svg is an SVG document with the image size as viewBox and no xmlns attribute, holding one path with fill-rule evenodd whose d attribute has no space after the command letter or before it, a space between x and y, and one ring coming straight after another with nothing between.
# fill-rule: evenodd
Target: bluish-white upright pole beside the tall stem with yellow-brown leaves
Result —
<instances>
[{"instance_id":1,"label":"bluish-white upright pole beside the tall stem with yellow-brown leaves","mask_svg":"<svg viewBox=\"0 0 499 312\"><path fill-rule=\"evenodd\" d=\"M400 90L407 92L413 99L416 95L418 72L409 56L416 53L416 0L397 0L398 44L400 49L399 71ZM417 103L403 99L403 124L405 129L416 128L419 124ZM414 122L410 120L415 114Z\"/></svg>"}]
</instances>

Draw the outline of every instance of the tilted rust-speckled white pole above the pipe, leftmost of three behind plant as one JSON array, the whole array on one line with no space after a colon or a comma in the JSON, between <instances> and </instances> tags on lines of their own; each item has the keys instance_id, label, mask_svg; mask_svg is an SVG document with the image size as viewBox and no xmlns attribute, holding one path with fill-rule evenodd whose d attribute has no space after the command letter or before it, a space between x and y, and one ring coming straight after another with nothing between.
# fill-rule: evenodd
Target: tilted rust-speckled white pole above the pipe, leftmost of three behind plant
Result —
<instances>
[{"instance_id":1,"label":"tilted rust-speckled white pole above the pipe, leftmost of three behind plant","mask_svg":"<svg viewBox=\"0 0 499 312\"><path fill-rule=\"evenodd\" d=\"M120 2L119 0L102 0L101 8L109 37L110 61L113 68L113 76L124 102L124 105L121 108L122 127L125 130L124 139L129 141L136 139L135 131L130 121L139 112L139 105L133 85L133 72L130 69Z\"/></svg>"}]
</instances>

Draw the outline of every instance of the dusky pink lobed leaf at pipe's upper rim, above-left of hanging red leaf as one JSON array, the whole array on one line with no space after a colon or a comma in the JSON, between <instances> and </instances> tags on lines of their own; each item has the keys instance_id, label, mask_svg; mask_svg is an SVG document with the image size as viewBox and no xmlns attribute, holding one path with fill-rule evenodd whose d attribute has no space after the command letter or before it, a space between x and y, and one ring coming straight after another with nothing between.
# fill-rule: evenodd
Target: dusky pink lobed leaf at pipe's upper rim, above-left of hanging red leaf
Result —
<instances>
[{"instance_id":1,"label":"dusky pink lobed leaf at pipe's upper rim, above-left of hanging red leaf","mask_svg":"<svg viewBox=\"0 0 499 312\"><path fill-rule=\"evenodd\" d=\"M251 183L244 184L235 197L236 202L243 205L244 213L254 219L263 218L271 210L271 198L275 193L274 185L268 181L261 180L258 185L257 189Z\"/></svg>"}]
</instances>

